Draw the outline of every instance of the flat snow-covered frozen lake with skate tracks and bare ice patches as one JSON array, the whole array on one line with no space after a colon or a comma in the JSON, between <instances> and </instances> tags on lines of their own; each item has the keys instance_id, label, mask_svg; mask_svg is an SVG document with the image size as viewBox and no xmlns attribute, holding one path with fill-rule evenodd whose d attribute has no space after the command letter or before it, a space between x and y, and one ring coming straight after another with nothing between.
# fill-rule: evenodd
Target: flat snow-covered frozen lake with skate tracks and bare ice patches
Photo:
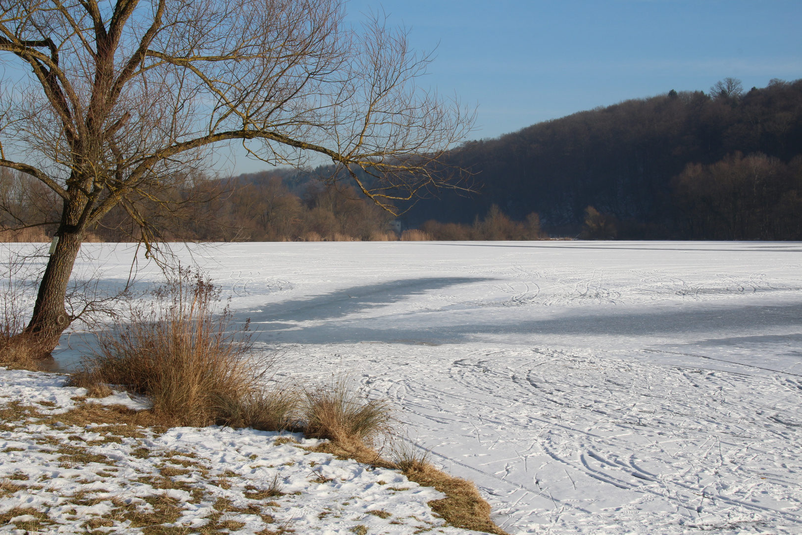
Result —
<instances>
[{"instance_id":1,"label":"flat snow-covered frozen lake with skate tracks and bare ice patches","mask_svg":"<svg viewBox=\"0 0 802 535\"><path fill-rule=\"evenodd\" d=\"M128 276L130 246L83 251L79 270ZM349 371L391 399L409 438L474 480L510 533L802 533L800 243L179 255L233 296L261 345L287 351L282 375Z\"/></svg>"}]
</instances>

